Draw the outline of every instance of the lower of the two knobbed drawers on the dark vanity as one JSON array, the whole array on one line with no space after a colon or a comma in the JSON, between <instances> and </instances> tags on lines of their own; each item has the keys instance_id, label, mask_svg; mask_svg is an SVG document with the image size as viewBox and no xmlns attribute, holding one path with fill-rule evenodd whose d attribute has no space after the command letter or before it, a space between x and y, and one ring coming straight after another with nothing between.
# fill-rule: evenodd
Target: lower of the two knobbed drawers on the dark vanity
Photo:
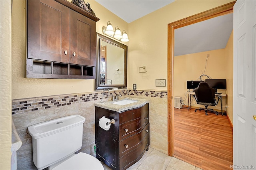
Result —
<instances>
[{"instance_id":1,"label":"lower of the two knobbed drawers on the dark vanity","mask_svg":"<svg viewBox=\"0 0 256 170\"><path fill-rule=\"evenodd\" d=\"M149 133L149 123L137 134L134 134L122 141L119 142L119 155L120 157L124 156L128 152L134 150L140 145L142 140Z\"/></svg>"}]
</instances>

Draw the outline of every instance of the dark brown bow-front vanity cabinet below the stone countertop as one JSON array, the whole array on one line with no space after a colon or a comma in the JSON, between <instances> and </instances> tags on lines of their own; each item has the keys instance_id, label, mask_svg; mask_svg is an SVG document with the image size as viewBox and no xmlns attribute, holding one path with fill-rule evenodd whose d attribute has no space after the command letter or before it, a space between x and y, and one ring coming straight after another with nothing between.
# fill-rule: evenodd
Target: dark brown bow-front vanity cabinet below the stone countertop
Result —
<instances>
[{"instance_id":1,"label":"dark brown bow-front vanity cabinet below the stone countertop","mask_svg":"<svg viewBox=\"0 0 256 170\"><path fill-rule=\"evenodd\" d=\"M99 126L105 116L114 119L109 130ZM125 170L143 156L149 146L149 104L123 112L95 107L96 158L114 170Z\"/></svg>"}]
</instances>

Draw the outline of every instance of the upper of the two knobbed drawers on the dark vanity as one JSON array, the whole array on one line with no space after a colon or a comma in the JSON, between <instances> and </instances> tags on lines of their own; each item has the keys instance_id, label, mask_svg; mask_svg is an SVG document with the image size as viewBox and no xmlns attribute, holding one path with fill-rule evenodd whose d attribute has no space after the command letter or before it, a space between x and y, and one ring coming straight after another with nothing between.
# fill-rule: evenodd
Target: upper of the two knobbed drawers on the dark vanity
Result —
<instances>
[{"instance_id":1,"label":"upper of the two knobbed drawers on the dark vanity","mask_svg":"<svg viewBox=\"0 0 256 170\"><path fill-rule=\"evenodd\" d=\"M119 125L119 141L140 132L148 122L148 113L145 113L138 119Z\"/></svg>"}]
</instances>

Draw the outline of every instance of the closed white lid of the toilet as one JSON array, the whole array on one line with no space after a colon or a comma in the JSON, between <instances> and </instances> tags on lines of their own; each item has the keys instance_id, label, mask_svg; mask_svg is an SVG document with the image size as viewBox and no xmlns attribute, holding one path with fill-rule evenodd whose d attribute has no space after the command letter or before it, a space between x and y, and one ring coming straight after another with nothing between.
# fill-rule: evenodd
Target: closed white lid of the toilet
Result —
<instances>
[{"instance_id":1,"label":"closed white lid of the toilet","mask_svg":"<svg viewBox=\"0 0 256 170\"><path fill-rule=\"evenodd\" d=\"M104 168L94 156L79 152L53 168L53 170L104 170Z\"/></svg>"}]
</instances>

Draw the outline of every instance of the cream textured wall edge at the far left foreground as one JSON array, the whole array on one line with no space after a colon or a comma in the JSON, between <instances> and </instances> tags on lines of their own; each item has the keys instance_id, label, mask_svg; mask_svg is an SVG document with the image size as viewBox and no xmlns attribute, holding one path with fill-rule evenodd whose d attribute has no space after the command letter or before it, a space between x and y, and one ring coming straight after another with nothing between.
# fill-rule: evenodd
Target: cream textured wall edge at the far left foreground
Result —
<instances>
[{"instance_id":1,"label":"cream textured wall edge at the far left foreground","mask_svg":"<svg viewBox=\"0 0 256 170\"><path fill-rule=\"evenodd\" d=\"M0 1L0 169L11 169L11 0Z\"/></svg>"}]
</instances>

